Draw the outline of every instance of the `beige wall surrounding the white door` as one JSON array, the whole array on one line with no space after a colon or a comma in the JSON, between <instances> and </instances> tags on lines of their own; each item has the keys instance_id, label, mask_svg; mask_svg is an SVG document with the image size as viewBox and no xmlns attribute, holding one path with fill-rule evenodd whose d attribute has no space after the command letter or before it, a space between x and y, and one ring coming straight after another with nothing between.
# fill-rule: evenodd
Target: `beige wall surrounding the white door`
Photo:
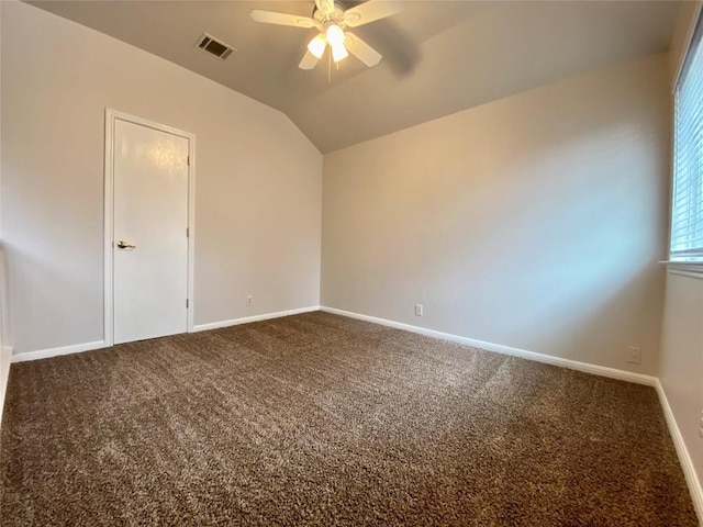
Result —
<instances>
[{"instance_id":1,"label":"beige wall surrounding the white door","mask_svg":"<svg viewBox=\"0 0 703 527\"><path fill-rule=\"evenodd\" d=\"M74 22L0 3L15 352L103 337L105 106L197 136L196 324L317 305L322 156L288 117Z\"/></svg>"}]
</instances>

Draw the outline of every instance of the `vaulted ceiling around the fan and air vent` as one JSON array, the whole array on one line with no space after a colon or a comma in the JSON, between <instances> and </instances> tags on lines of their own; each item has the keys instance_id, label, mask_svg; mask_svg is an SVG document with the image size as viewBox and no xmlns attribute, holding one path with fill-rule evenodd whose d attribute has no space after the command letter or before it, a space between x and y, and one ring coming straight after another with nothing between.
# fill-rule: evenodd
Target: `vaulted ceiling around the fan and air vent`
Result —
<instances>
[{"instance_id":1,"label":"vaulted ceiling around the fan and air vent","mask_svg":"<svg viewBox=\"0 0 703 527\"><path fill-rule=\"evenodd\" d=\"M377 1L377 0L372 0ZM358 27L383 60L298 69L316 30L259 24L252 9L309 16L314 1L32 1L284 112L322 153L582 71L668 49L679 2L405 1ZM337 2L352 7L360 2ZM208 32L237 52L194 44Z\"/></svg>"}]
</instances>

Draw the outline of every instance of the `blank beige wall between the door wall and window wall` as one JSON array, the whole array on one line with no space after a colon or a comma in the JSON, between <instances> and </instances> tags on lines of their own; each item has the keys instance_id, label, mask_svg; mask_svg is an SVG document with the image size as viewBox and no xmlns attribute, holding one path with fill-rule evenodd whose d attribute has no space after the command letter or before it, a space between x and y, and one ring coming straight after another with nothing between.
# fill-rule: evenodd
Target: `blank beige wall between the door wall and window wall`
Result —
<instances>
[{"instance_id":1,"label":"blank beige wall between the door wall and window wall","mask_svg":"<svg viewBox=\"0 0 703 527\"><path fill-rule=\"evenodd\" d=\"M326 155L322 304L655 374L667 66L652 56Z\"/></svg>"}]
</instances>

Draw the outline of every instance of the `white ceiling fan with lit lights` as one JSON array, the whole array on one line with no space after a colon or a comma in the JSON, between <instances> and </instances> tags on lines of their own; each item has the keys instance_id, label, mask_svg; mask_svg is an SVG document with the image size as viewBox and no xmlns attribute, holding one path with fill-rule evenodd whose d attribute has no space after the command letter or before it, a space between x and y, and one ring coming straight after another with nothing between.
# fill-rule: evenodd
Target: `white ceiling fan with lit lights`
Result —
<instances>
[{"instance_id":1,"label":"white ceiling fan with lit lights","mask_svg":"<svg viewBox=\"0 0 703 527\"><path fill-rule=\"evenodd\" d=\"M348 57L350 53L370 68L381 61L381 54L345 30L376 22L400 11L398 2L370 0L345 11L335 5L334 0L315 0L311 18L258 9L252 10L252 18L267 24L315 27L320 32L308 44L308 52L298 65L301 69L313 69L325 53L327 44L335 63Z\"/></svg>"}]
</instances>

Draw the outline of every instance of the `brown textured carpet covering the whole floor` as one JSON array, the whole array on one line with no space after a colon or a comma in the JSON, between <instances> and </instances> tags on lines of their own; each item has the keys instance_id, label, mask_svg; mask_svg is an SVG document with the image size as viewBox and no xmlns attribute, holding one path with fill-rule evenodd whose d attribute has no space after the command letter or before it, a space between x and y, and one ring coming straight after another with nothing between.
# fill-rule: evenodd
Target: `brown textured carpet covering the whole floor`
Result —
<instances>
[{"instance_id":1,"label":"brown textured carpet covering the whole floor","mask_svg":"<svg viewBox=\"0 0 703 527\"><path fill-rule=\"evenodd\" d=\"M695 526L651 388L326 313L13 365L1 523Z\"/></svg>"}]
</instances>

